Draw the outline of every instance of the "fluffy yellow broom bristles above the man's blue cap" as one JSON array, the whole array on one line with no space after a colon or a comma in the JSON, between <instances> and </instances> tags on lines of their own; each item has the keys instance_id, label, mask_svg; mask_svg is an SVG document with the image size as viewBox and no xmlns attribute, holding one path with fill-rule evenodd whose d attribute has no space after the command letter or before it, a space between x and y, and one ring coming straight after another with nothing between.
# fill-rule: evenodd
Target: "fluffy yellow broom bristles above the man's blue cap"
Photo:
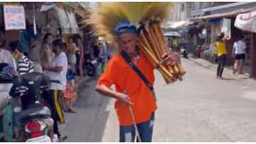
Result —
<instances>
[{"instance_id":1,"label":"fluffy yellow broom bristles above the man's blue cap","mask_svg":"<svg viewBox=\"0 0 256 144\"><path fill-rule=\"evenodd\" d=\"M160 21L168 18L172 4L169 2L102 2L90 13L90 18L82 23L93 26L97 35L109 35L107 40L114 40L114 27L121 20L139 24L146 18L159 17Z\"/></svg>"}]
</instances>

